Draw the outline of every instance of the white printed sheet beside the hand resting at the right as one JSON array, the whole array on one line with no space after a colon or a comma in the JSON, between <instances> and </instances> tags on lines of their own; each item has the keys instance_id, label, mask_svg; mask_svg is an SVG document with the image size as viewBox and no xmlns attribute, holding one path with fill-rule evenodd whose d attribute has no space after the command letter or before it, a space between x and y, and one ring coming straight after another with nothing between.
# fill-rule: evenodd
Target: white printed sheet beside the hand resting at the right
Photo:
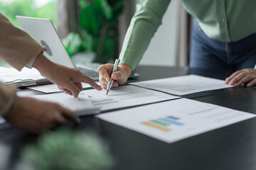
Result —
<instances>
[{"instance_id":1,"label":"white printed sheet beside the hand resting at the right","mask_svg":"<svg viewBox=\"0 0 256 170\"><path fill-rule=\"evenodd\" d=\"M188 76L154 79L131 84L182 96L185 94L193 94L201 91L230 87L230 85L227 85L224 82L225 81L219 79L212 79L191 74Z\"/></svg>"}]
</instances>

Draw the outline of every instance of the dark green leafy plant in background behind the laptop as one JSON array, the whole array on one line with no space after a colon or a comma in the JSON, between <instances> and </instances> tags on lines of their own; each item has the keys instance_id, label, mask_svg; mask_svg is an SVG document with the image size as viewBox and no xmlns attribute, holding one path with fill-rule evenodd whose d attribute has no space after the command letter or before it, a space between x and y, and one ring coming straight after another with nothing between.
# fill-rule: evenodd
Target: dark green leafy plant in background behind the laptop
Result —
<instances>
[{"instance_id":1,"label":"dark green leafy plant in background behind the laptop","mask_svg":"<svg viewBox=\"0 0 256 170\"><path fill-rule=\"evenodd\" d=\"M97 57L94 62L106 63L116 58L119 38L118 17L123 11L125 1L127 0L78 0L80 23L77 35L80 36L82 43L80 47L73 49L95 52ZM77 41L77 35L70 34L67 37L69 41ZM71 36L73 38L70 38ZM64 45L72 56L76 52L73 52L68 44L71 43L65 40Z\"/></svg>"}]
</instances>

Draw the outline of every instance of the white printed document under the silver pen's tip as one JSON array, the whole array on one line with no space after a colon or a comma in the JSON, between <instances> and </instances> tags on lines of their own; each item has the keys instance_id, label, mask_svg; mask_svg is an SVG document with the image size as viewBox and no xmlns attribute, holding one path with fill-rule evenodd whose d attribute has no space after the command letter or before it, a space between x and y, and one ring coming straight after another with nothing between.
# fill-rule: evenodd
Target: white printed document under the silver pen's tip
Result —
<instances>
[{"instance_id":1,"label":"white printed document under the silver pen's tip","mask_svg":"<svg viewBox=\"0 0 256 170\"><path fill-rule=\"evenodd\" d=\"M82 91L80 96L90 98L92 105L100 107L101 111L180 98L132 85L112 88L107 96L105 90L96 91L95 89Z\"/></svg>"}]
</instances>

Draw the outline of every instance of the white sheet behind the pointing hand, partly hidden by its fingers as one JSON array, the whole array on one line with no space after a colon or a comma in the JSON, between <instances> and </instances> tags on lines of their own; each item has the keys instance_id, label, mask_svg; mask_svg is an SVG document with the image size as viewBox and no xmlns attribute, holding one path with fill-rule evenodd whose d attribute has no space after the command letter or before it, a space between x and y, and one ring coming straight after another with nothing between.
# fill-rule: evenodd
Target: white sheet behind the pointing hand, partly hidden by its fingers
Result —
<instances>
[{"instance_id":1,"label":"white sheet behind the pointing hand, partly hidden by its fingers","mask_svg":"<svg viewBox=\"0 0 256 170\"><path fill-rule=\"evenodd\" d=\"M100 81L95 81L95 83L100 85ZM88 88L90 87L89 84L82 83L82 88ZM41 85L41 86L31 86L28 87L28 89L32 89L35 91L41 91L46 94L60 92L60 89L58 89L58 86L56 84L47 84L47 85Z\"/></svg>"}]
</instances>

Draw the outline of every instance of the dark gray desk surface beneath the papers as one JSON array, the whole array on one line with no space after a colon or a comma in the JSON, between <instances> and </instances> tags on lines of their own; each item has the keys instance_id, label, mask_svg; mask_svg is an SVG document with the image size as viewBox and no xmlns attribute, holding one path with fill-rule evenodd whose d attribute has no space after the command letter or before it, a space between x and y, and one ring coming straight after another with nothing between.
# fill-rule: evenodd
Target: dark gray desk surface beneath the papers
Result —
<instances>
[{"instance_id":1,"label":"dark gray desk surface beneath the papers","mask_svg":"<svg viewBox=\"0 0 256 170\"><path fill-rule=\"evenodd\" d=\"M225 79L231 72L188 69L181 67L139 67L138 79L147 79L198 74L206 77ZM39 94L23 90L21 94ZM213 103L219 106L256 113L255 88L230 88L202 92L186 96L196 101ZM72 125L68 125L72 126ZM117 157L114 169L256 169L256 119L245 120L225 128L189 137L179 142L166 144L138 132L107 123L92 116L82 118L78 129L94 129L107 143ZM10 145L14 157L26 145L35 142L38 137L9 125L0 126L0 142Z\"/></svg>"}]
</instances>

